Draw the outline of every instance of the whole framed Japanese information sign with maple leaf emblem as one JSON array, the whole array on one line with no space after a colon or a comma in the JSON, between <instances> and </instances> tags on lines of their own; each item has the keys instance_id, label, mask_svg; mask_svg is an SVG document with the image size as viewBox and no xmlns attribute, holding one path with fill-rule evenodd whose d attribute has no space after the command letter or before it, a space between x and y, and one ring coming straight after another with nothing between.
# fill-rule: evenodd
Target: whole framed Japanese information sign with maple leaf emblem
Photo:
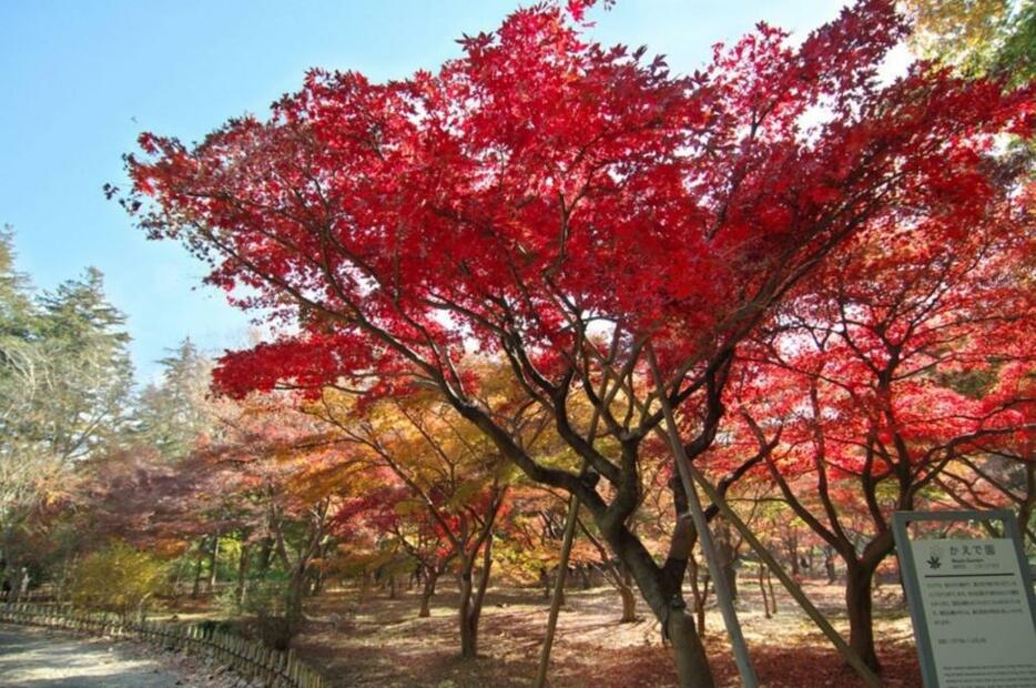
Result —
<instances>
[{"instance_id":1,"label":"whole framed Japanese information sign with maple leaf emblem","mask_svg":"<svg viewBox=\"0 0 1036 688\"><path fill-rule=\"evenodd\" d=\"M1001 537L911 539L907 530L995 520ZM925 688L1036 686L1036 598L1014 514L897 512L892 527Z\"/></svg>"}]
</instances>

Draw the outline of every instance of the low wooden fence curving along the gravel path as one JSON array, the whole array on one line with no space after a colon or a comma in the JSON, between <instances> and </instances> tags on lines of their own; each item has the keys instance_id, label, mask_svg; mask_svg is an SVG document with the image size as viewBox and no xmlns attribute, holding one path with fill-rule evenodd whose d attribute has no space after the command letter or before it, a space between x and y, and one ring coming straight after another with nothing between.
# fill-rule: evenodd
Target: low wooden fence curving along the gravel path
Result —
<instances>
[{"instance_id":1,"label":"low wooden fence curving along the gravel path","mask_svg":"<svg viewBox=\"0 0 1036 688\"><path fill-rule=\"evenodd\" d=\"M258 679L273 688L327 688L324 678L299 661L295 650L281 652L262 643L200 625L124 620L111 614L74 611L27 603L0 606L0 621L149 643L174 651L207 657L241 676Z\"/></svg>"}]
</instances>

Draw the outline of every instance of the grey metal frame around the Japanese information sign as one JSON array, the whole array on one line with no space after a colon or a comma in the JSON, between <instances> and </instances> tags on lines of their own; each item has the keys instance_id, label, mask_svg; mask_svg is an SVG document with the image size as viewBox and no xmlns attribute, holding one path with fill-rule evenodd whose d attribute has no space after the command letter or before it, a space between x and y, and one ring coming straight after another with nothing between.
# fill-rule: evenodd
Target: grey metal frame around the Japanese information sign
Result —
<instances>
[{"instance_id":1,"label":"grey metal frame around the Japanese information sign","mask_svg":"<svg viewBox=\"0 0 1036 688\"><path fill-rule=\"evenodd\" d=\"M914 639L917 645L917 656L921 660L921 677L925 688L938 688L938 674L935 666L935 651L932 647L932 637L928 633L928 621L924 613L924 603L921 596L921 583L914 552L911 547L908 526L913 522L995 522L1004 524L1003 537L1010 539L1015 556L1018 559L1018 569L1022 583L1025 586L1029 614L1036 625L1036 594L1033 593L1033 573L1025 557L1022 545L1022 532L1018 519L1009 509L987 510L947 510L947 512L895 512L892 515L892 535L895 539L896 554L900 558L900 575L906 591L906 601L910 606L911 621L914 626Z\"/></svg>"}]
</instances>

